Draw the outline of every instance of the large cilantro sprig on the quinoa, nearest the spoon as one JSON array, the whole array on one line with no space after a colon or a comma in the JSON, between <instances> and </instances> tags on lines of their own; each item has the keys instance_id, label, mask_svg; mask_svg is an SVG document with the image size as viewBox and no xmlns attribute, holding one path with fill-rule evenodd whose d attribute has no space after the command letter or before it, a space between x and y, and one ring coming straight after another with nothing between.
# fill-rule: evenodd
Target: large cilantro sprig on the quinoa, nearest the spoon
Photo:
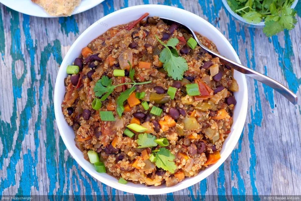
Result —
<instances>
[{"instance_id":1,"label":"large cilantro sprig on the quinoa, nearest the spoon","mask_svg":"<svg viewBox=\"0 0 301 201\"><path fill-rule=\"evenodd\" d=\"M187 61L183 57L179 57L175 54L175 46L179 40L177 38L171 38L164 44L157 35L155 35L157 41L159 41L165 48L160 52L159 60L163 63L163 68L167 72L167 75L174 80L182 80L184 72L188 70ZM170 50L169 47L173 49Z\"/></svg>"}]
</instances>

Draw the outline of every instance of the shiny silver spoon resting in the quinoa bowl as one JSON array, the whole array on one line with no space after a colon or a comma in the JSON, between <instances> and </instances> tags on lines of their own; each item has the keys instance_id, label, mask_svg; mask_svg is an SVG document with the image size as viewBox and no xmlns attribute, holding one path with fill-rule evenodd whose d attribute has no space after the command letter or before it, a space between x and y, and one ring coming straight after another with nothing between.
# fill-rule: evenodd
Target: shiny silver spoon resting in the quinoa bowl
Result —
<instances>
[{"instance_id":1,"label":"shiny silver spoon resting in the quinoa bowl","mask_svg":"<svg viewBox=\"0 0 301 201\"><path fill-rule=\"evenodd\" d=\"M243 73L246 74L249 77L252 77L255 80L258 80L259 82L262 82L270 87L272 87L274 90L278 91L282 96L284 96L285 98L287 98L291 103L293 103L294 105L297 104L297 96L296 94L294 94L291 90L289 90L287 87L285 87L283 84L277 82L276 80L273 80L270 77L267 77L259 72L256 72L250 68L247 68L241 64L236 63L235 61L232 61L230 59L227 59L225 57L223 57L222 55L217 54L216 52L213 52L212 50L208 49L206 46L204 46L198 39L197 36L195 35L195 33L193 32L193 30L191 30L191 28L187 27L186 25L184 25L181 22L175 21L175 20L171 20L168 18L164 18L164 17L160 17L160 19L162 19L164 22L166 22L167 24L181 24L183 27L185 28L187 31L190 32L190 34L194 37L194 39L197 41L198 45L203 48L204 50L208 51L211 55L214 55L216 57L219 57L219 60L228 65L229 67Z\"/></svg>"}]
</instances>

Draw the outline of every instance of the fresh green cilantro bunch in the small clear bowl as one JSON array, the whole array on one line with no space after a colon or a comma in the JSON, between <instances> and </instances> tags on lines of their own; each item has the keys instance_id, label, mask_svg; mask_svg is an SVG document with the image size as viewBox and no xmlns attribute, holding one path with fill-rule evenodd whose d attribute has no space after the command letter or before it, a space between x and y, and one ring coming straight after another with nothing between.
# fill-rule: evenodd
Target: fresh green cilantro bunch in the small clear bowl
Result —
<instances>
[{"instance_id":1,"label":"fresh green cilantro bunch in the small clear bowl","mask_svg":"<svg viewBox=\"0 0 301 201\"><path fill-rule=\"evenodd\" d=\"M265 21L263 33L272 36L284 29L291 30L297 22L294 0L228 0L230 8L249 23Z\"/></svg>"}]
</instances>

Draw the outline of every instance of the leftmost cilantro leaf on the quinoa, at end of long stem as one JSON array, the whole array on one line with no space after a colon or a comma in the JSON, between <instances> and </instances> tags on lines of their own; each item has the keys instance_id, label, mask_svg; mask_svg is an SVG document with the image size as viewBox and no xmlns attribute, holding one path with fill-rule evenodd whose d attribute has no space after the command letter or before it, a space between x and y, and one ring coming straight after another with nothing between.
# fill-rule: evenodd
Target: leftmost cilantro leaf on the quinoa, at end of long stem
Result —
<instances>
[{"instance_id":1,"label":"leftmost cilantro leaf on the quinoa, at end of long stem","mask_svg":"<svg viewBox=\"0 0 301 201\"><path fill-rule=\"evenodd\" d=\"M102 76L94 86L95 96L101 97L106 93L104 96L107 98L113 92L114 88L115 86L112 85L112 79L109 79L107 76Z\"/></svg>"}]
</instances>

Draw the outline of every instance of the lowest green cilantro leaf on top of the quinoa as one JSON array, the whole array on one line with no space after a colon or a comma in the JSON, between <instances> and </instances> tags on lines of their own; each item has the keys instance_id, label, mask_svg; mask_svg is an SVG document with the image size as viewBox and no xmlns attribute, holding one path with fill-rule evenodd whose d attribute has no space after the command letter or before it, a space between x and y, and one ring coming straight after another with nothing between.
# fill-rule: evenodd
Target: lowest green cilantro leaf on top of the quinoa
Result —
<instances>
[{"instance_id":1,"label":"lowest green cilantro leaf on top of the quinoa","mask_svg":"<svg viewBox=\"0 0 301 201\"><path fill-rule=\"evenodd\" d=\"M168 149L160 148L159 151L156 152L156 166L172 174L177 168L173 160L175 160L175 156Z\"/></svg>"}]
</instances>

